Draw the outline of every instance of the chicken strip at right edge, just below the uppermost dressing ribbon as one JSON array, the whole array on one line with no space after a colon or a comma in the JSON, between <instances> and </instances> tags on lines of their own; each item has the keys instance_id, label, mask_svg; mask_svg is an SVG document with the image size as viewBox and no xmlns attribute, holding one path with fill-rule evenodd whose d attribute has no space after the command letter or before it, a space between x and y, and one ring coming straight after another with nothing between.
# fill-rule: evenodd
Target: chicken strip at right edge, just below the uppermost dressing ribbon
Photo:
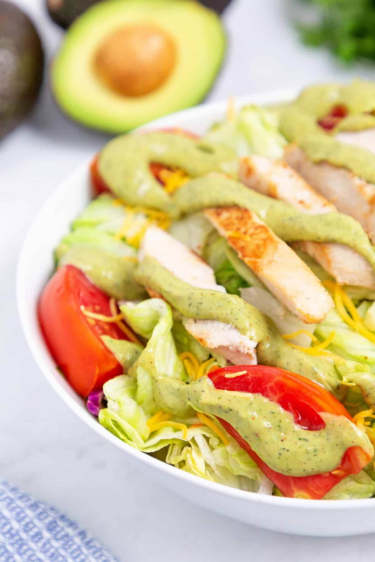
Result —
<instances>
[{"instance_id":1,"label":"chicken strip at right edge, just below the uppermost dressing ribbon","mask_svg":"<svg viewBox=\"0 0 375 562\"><path fill-rule=\"evenodd\" d=\"M375 185L367 183L350 170L328 162L313 161L297 144L288 145L284 160L313 189L333 203L337 210L351 215L362 224L372 244L375 243Z\"/></svg>"}]
</instances>

